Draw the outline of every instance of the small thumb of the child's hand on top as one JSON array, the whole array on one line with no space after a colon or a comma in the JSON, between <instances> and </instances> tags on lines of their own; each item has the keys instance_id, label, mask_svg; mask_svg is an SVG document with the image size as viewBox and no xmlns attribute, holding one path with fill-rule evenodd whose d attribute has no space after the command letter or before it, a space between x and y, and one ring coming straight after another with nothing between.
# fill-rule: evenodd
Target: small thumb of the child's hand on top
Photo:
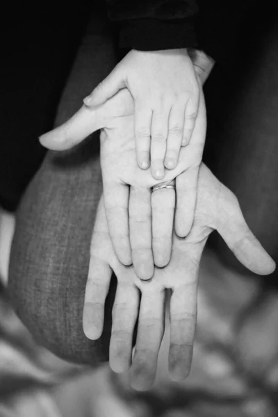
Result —
<instances>
[{"instance_id":1,"label":"small thumb of the child's hand on top","mask_svg":"<svg viewBox=\"0 0 278 417\"><path fill-rule=\"evenodd\" d=\"M119 90L126 87L126 80L122 70L118 67L106 76L104 81L101 81L99 85L92 90L91 94L85 97L83 100L86 106L99 106L99 104L105 103L106 100L113 97Z\"/></svg>"}]
</instances>

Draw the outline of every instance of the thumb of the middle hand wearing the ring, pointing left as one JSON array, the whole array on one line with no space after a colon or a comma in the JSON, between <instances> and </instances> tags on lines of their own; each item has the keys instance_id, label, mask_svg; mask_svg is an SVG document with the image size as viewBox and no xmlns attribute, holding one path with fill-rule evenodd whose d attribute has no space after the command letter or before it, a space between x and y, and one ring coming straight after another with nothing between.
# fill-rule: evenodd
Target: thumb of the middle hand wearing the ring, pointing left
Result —
<instances>
[{"instance_id":1,"label":"thumb of the middle hand wearing the ring, pointing left","mask_svg":"<svg viewBox=\"0 0 278 417\"><path fill-rule=\"evenodd\" d=\"M97 129L95 113L83 106L70 120L40 136L40 143L48 149L63 151L79 144Z\"/></svg>"}]
</instances>

